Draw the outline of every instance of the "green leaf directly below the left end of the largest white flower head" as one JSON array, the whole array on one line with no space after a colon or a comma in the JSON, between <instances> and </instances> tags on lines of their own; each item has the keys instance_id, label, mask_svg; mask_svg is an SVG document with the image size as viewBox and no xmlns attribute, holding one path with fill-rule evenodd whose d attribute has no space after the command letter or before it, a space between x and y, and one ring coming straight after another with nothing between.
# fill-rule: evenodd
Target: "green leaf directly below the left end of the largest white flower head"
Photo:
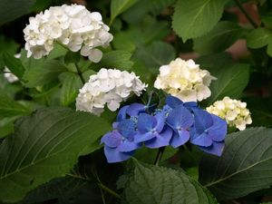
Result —
<instances>
[{"instance_id":1,"label":"green leaf directly below the left end of the largest white flower head","mask_svg":"<svg viewBox=\"0 0 272 204\"><path fill-rule=\"evenodd\" d=\"M58 75L66 71L66 67L57 60L29 59L30 66L23 79L27 87L35 87L57 81Z\"/></svg>"}]
</instances>

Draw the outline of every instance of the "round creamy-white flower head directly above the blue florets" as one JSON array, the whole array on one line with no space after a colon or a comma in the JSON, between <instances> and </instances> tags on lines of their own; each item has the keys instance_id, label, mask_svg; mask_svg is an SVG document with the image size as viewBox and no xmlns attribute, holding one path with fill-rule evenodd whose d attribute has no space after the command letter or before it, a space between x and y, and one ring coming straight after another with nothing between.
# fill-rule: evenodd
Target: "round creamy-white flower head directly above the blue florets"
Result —
<instances>
[{"instance_id":1,"label":"round creamy-white flower head directly above the blue florets","mask_svg":"<svg viewBox=\"0 0 272 204\"><path fill-rule=\"evenodd\" d=\"M200 102L210 96L209 84L215 79L209 71L200 69L199 64L193 60L177 58L168 65L160 66L160 74L154 87L183 102Z\"/></svg>"}]
</instances>

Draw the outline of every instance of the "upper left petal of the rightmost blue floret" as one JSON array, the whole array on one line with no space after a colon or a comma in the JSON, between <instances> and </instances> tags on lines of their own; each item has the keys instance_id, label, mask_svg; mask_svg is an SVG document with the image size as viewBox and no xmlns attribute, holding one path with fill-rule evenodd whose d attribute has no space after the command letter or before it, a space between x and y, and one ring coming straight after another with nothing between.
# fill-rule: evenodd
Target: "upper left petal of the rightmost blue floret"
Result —
<instances>
[{"instance_id":1,"label":"upper left petal of the rightmost blue floret","mask_svg":"<svg viewBox=\"0 0 272 204\"><path fill-rule=\"evenodd\" d=\"M195 115L194 126L198 134L201 134L203 131L209 129L209 127L212 126L213 121L209 112L206 112L200 108L192 109L192 111Z\"/></svg>"}]
</instances>

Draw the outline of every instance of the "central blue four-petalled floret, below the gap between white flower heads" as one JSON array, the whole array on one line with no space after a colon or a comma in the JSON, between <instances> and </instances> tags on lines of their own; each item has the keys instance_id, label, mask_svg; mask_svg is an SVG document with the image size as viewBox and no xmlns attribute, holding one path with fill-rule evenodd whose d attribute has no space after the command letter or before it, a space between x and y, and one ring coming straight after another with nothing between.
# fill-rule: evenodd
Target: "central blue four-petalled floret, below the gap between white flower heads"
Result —
<instances>
[{"instance_id":1,"label":"central blue four-petalled floret, below the gap between white flower heads","mask_svg":"<svg viewBox=\"0 0 272 204\"><path fill-rule=\"evenodd\" d=\"M165 125L165 115L141 113L138 118L135 142L143 142L151 149L169 145L172 131Z\"/></svg>"}]
</instances>

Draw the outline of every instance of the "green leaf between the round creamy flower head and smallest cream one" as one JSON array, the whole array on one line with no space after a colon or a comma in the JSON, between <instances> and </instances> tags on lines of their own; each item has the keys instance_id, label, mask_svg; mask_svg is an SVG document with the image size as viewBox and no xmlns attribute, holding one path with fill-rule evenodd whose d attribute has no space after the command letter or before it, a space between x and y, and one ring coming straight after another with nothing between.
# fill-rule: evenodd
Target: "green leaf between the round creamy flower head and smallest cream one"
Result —
<instances>
[{"instance_id":1,"label":"green leaf between the round creamy flower head and smallest cream one","mask_svg":"<svg viewBox=\"0 0 272 204\"><path fill-rule=\"evenodd\" d=\"M217 67L218 69L211 69L210 73L217 77L217 80L212 81L209 88L211 96L207 102L211 104L224 96L237 99L246 88L249 79L249 64L236 63L227 67Z\"/></svg>"}]
</instances>

